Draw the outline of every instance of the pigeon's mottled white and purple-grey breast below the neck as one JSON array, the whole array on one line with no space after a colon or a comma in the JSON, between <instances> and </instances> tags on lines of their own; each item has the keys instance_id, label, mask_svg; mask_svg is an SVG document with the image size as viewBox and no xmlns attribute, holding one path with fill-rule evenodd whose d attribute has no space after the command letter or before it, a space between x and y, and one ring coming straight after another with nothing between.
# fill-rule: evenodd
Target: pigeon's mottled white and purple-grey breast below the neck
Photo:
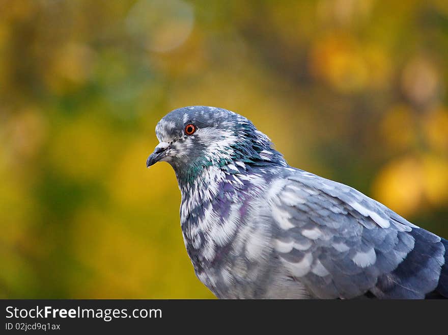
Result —
<instances>
[{"instance_id":1,"label":"pigeon's mottled white and purple-grey breast below the neck","mask_svg":"<svg viewBox=\"0 0 448 335\"><path fill-rule=\"evenodd\" d=\"M270 252L270 231L256 218L266 184L259 174L211 171L182 191L188 255L199 279L218 297L262 295L258 285L266 276L261 263Z\"/></svg>"}]
</instances>

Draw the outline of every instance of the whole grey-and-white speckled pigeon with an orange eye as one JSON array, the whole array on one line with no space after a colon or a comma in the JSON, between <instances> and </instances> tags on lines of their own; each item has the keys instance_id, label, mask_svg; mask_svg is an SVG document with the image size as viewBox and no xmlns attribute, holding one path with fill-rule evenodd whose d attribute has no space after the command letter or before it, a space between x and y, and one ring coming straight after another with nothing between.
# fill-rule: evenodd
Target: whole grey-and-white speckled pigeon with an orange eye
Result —
<instances>
[{"instance_id":1,"label":"whole grey-and-white speckled pigeon with an orange eye","mask_svg":"<svg viewBox=\"0 0 448 335\"><path fill-rule=\"evenodd\" d=\"M448 298L448 241L359 191L293 168L244 116L176 109L169 163L194 272L221 299Z\"/></svg>"}]
</instances>

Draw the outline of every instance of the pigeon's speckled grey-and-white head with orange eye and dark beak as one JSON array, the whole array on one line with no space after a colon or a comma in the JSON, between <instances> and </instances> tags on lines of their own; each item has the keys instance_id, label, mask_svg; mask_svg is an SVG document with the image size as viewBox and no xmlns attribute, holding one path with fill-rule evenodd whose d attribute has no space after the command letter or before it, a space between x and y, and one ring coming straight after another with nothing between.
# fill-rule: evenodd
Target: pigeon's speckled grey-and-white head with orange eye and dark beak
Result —
<instances>
[{"instance_id":1,"label":"pigeon's speckled grey-and-white head with orange eye and dark beak","mask_svg":"<svg viewBox=\"0 0 448 335\"><path fill-rule=\"evenodd\" d=\"M232 162L286 164L282 155L271 147L269 138L252 122L221 108L176 109L157 123L156 136L160 143L146 165L168 162L178 176L194 177L208 166L225 168Z\"/></svg>"}]
</instances>

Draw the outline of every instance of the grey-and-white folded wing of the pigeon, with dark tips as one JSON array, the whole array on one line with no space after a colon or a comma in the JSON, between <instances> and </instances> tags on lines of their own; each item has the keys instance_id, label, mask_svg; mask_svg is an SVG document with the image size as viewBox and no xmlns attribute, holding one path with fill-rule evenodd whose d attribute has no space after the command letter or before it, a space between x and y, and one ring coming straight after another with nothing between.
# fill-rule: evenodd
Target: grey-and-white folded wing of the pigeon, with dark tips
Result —
<instances>
[{"instance_id":1,"label":"grey-and-white folded wing of the pigeon, with dark tips","mask_svg":"<svg viewBox=\"0 0 448 335\"><path fill-rule=\"evenodd\" d=\"M268 192L274 250L314 296L448 297L446 240L353 188L288 171Z\"/></svg>"}]
</instances>

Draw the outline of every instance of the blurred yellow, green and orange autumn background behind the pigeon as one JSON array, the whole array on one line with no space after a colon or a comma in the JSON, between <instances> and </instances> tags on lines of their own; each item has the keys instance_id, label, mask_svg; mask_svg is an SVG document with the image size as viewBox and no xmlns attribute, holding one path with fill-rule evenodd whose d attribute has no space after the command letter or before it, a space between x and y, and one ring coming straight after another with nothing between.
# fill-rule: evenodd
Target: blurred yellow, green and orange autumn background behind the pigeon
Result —
<instances>
[{"instance_id":1,"label":"blurred yellow, green and orange autumn background behind the pigeon","mask_svg":"<svg viewBox=\"0 0 448 335\"><path fill-rule=\"evenodd\" d=\"M448 238L447 62L445 0L0 0L0 298L213 297L145 166L189 105Z\"/></svg>"}]
</instances>

